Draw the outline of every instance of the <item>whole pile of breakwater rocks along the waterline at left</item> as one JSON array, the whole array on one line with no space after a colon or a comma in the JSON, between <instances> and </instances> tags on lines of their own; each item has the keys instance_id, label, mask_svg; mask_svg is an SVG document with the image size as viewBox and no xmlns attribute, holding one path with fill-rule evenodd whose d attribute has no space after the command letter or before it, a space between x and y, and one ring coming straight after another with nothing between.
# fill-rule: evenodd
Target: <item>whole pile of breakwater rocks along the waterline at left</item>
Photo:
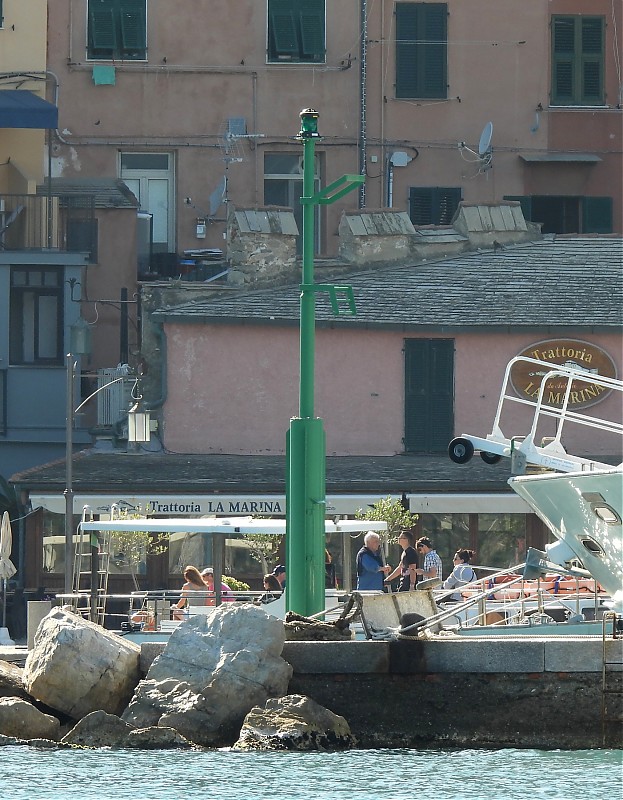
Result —
<instances>
[{"instance_id":1,"label":"whole pile of breakwater rocks along the waterline at left","mask_svg":"<svg viewBox=\"0 0 623 800\"><path fill-rule=\"evenodd\" d=\"M142 677L137 645L54 609L23 670L0 662L0 744L352 746L342 717L287 695L284 641L283 623L262 609L223 605L180 625Z\"/></svg>"}]
</instances>

